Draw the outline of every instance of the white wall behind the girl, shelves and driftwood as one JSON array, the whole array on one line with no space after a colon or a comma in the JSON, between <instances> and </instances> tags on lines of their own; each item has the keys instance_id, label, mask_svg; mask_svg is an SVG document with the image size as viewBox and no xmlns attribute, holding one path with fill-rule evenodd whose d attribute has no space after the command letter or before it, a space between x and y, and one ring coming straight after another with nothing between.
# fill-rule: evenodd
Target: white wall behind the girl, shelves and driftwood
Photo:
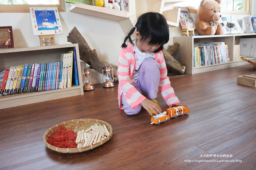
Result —
<instances>
[{"instance_id":1,"label":"white wall behind the girl, shelves and driftwood","mask_svg":"<svg viewBox=\"0 0 256 170\"><path fill-rule=\"evenodd\" d=\"M91 49L96 49L102 60L108 60L118 66L118 56L121 50L125 34L118 22L102 19L74 12L69 12L71 4L65 3L66 12L60 12L63 34L55 35L55 43L68 44L68 33L76 26ZM252 1L252 15L256 16L256 1ZM225 15L224 15L225 16ZM243 17L246 15L233 15L246 33ZM192 14L196 21L196 14ZM15 48L40 46L39 37L34 36L29 13L0 13L0 26L12 26ZM180 36L179 28L170 28L170 41L165 45L172 45L172 37ZM182 48L180 48L182 50ZM91 71L92 84L102 83L102 75L94 70Z\"/></svg>"}]
</instances>

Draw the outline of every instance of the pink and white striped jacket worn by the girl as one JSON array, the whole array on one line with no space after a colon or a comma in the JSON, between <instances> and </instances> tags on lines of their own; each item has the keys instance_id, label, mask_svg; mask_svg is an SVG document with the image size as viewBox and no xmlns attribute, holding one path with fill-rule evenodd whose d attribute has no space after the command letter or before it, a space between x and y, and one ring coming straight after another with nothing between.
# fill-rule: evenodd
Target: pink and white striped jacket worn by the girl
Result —
<instances>
[{"instance_id":1,"label":"pink and white striped jacket worn by the girl","mask_svg":"<svg viewBox=\"0 0 256 170\"><path fill-rule=\"evenodd\" d=\"M164 61L164 55L162 51L155 53L155 60L160 64L160 82L159 82L159 91L161 92L165 102L168 106L175 103L180 103L178 97L175 96L174 90L171 87L169 78L167 77L167 68ZM119 55L118 62L118 104L120 109L124 109L122 106L122 94L127 100L128 104L132 108L136 108L140 103L146 99L136 88L132 85L132 75L135 69L135 54L132 48L132 44L129 44L128 47L123 48Z\"/></svg>"}]
</instances>

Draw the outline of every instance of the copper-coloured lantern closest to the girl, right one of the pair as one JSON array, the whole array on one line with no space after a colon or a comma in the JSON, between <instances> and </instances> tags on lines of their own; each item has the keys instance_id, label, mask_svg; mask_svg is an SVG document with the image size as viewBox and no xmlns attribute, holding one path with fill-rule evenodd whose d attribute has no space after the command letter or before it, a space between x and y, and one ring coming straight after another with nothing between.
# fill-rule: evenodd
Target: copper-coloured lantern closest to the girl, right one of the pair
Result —
<instances>
[{"instance_id":1,"label":"copper-coloured lantern closest to the girl, right one of the pair","mask_svg":"<svg viewBox=\"0 0 256 170\"><path fill-rule=\"evenodd\" d=\"M114 84L113 68L109 62L108 64L110 66L105 66L104 64L106 62L108 62L108 60L106 60L102 66L102 82L104 83L103 87L114 87L115 84Z\"/></svg>"}]
</instances>

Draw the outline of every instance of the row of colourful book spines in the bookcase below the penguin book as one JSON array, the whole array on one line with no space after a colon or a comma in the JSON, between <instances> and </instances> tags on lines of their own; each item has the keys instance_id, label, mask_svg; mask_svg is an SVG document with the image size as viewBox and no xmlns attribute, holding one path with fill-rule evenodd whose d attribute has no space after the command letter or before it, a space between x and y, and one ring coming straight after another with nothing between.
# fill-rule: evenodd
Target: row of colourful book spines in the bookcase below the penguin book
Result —
<instances>
[{"instance_id":1,"label":"row of colourful book spines in the bookcase below the penguin book","mask_svg":"<svg viewBox=\"0 0 256 170\"><path fill-rule=\"evenodd\" d=\"M78 85L76 50L60 54L60 61L11 66L0 72L0 95L40 92Z\"/></svg>"}]
</instances>

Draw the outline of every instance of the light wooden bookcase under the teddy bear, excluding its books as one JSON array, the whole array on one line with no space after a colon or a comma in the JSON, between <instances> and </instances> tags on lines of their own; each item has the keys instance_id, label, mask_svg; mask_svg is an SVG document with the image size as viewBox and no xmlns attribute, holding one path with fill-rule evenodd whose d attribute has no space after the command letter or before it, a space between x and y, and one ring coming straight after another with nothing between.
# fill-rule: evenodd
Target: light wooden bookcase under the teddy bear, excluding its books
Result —
<instances>
[{"instance_id":1,"label":"light wooden bookcase under the teddy bear, excluding its books","mask_svg":"<svg viewBox=\"0 0 256 170\"><path fill-rule=\"evenodd\" d=\"M173 43L178 42L180 44L180 50L175 59L182 64L186 64L185 73L187 74L196 74L248 64L243 60L235 61L234 45L239 44L240 38L256 38L256 33L173 37ZM230 62L194 67L193 48L205 42L225 42L228 45ZM255 57L250 57L250 60L256 62Z\"/></svg>"}]
</instances>

